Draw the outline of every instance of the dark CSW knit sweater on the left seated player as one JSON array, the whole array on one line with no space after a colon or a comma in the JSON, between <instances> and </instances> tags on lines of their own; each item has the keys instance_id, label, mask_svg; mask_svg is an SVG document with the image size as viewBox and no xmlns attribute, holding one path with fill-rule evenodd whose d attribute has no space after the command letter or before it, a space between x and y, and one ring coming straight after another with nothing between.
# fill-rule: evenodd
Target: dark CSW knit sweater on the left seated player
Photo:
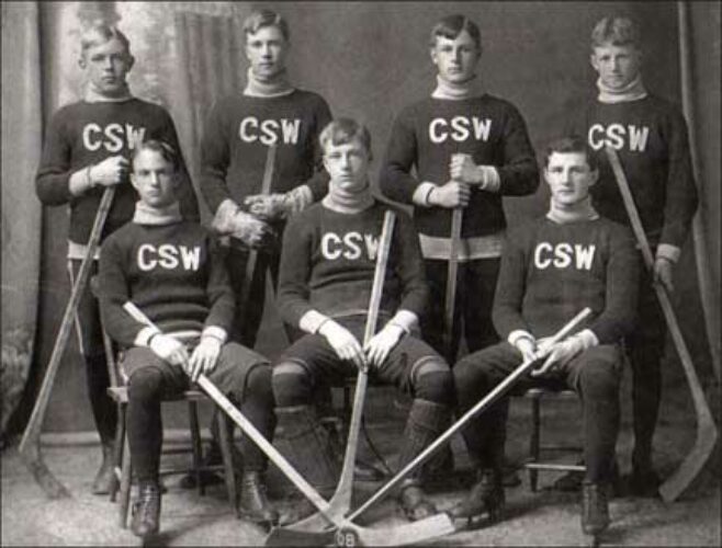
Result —
<instances>
[{"instance_id":1,"label":"dark CSW knit sweater on the left seated player","mask_svg":"<svg viewBox=\"0 0 722 548\"><path fill-rule=\"evenodd\" d=\"M195 222L128 222L100 255L101 311L110 335L133 345L145 327L123 309L131 300L161 331L228 331L235 299L221 250Z\"/></svg>"}]
</instances>

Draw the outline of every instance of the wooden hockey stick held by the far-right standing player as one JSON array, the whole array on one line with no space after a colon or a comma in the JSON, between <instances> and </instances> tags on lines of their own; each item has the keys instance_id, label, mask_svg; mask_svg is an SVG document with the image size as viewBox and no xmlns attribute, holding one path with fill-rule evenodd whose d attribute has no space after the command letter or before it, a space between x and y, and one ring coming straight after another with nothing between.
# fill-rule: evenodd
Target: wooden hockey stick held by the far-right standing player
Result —
<instances>
[{"instance_id":1,"label":"wooden hockey stick held by the far-right standing player","mask_svg":"<svg viewBox=\"0 0 722 548\"><path fill-rule=\"evenodd\" d=\"M650 248L650 242L646 239L644 233L644 227L642 226L642 220L640 219L639 212L636 210L636 205L634 204L634 198L632 197L632 192L629 187L629 182L627 181L627 175L622 169L622 164L619 160L617 151L611 147L607 147L607 157L609 158L609 163L614 172L614 178L617 179L617 184L619 191L624 201L624 207L627 208L627 214L629 215L630 221L632 224L632 230L636 237L636 241L642 249L642 256L644 258L644 263L650 272L653 272L654 269L654 256L652 255L652 249ZM685 344L685 339L681 335L681 330L679 329L679 323L677 322L677 317L675 311L672 308L672 302L669 296L667 295L666 288L657 283L653 283L654 292L657 295L659 300L659 306L664 313L664 319L667 322L667 328L672 334L672 340L679 355L679 361L681 362L682 369L685 370L685 376L687 377L687 383L689 384L689 389L692 392L692 402L695 403L695 411L697 413L697 439L691 450L685 457L681 465L675 470L675 472L667 478L667 480L659 486L659 494L665 502L675 501L695 480L699 472L704 467L704 463L709 459L710 455L714 449L714 444L717 442L717 426L714 425L714 419L710 412L710 408L707 404L704 398L704 390L699 381L697 376L697 370L695 369L695 364L692 358L689 355L687 345Z\"/></svg>"}]
</instances>

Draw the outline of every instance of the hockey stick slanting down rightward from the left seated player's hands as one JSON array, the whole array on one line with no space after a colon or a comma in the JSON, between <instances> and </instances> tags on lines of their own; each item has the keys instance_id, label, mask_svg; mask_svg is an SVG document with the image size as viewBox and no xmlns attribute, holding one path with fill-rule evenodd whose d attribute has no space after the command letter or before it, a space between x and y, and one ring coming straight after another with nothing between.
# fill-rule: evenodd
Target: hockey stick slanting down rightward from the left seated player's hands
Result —
<instances>
[{"instance_id":1,"label":"hockey stick slanting down rightward from the left seated player's hands","mask_svg":"<svg viewBox=\"0 0 722 548\"><path fill-rule=\"evenodd\" d=\"M137 321L146 326L154 326L150 319L143 313L133 302L127 301L123 308ZM281 472L291 480L291 482L306 496L318 511L326 515L328 503L318 493L318 491L308 483L303 476L289 463L285 457L275 448L271 443L261 434L253 423L251 423L244 414L226 398L221 390L211 381L204 374L199 376L196 384L205 393L223 409L228 416L238 425L244 433L250 437L256 445L268 456L268 458L278 467ZM345 517L336 517L326 515L336 529L329 529L320 534L307 534L304 532L289 530L290 545L302 546L304 540L313 536L314 544L312 546L319 546L321 544L332 543L339 538L345 538L345 535L354 535L360 546L401 546L404 544L415 544L430 538L448 535L455 530L453 523L445 514L438 514L428 520L422 520L415 523L409 523L399 527L393 528L379 528L372 529L369 527L361 527L351 523ZM283 540L283 538L281 538ZM341 543L339 543L341 544ZM285 544L275 546L286 546ZM351 546L351 545L348 545Z\"/></svg>"}]
</instances>

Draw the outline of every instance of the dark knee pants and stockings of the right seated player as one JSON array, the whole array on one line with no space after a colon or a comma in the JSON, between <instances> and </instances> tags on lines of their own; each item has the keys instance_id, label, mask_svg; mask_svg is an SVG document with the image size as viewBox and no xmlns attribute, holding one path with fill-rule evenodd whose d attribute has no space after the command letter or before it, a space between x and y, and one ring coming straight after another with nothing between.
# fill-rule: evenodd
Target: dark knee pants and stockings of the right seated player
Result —
<instances>
[{"instance_id":1,"label":"dark knee pants and stockings of the right seated player","mask_svg":"<svg viewBox=\"0 0 722 548\"><path fill-rule=\"evenodd\" d=\"M461 359L453 369L459 414L465 413L522 363L521 353L507 342ZM622 354L617 345L589 349L566 364L554 379L527 376L517 389L533 386L567 386L582 400L584 456L587 479L611 479L614 446L620 424L619 388ZM500 469L504 463L508 396L473 419L463 431L470 457L481 468Z\"/></svg>"}]
</instances>

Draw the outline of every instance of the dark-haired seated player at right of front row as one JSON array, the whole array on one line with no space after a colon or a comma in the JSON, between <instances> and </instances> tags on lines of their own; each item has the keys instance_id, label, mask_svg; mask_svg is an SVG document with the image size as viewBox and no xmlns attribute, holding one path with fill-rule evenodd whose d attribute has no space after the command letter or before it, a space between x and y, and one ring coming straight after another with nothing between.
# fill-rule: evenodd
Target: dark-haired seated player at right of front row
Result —
<instances>
[{"instance_id":1,"label":"dark-haired seated player at right of front row","mask_svg":"<svg viewBox=\"0 0 722 548\"><path fill-rule=\"evenodd\" d=\"M598 172L584 139L554 141L545 162L550 210L511 231L501 256L494 324L505 341L461 359L454 380L460 413L465 412L522 359L543 351L541 369L520 385L566 385L579 395L587 464L582 527L596 534L609 524L607 490L620 422L620 343L633 328L639 258L630 230L591 207L589 189ZM585 307L594 313L588 328L544 349L544 338ZM501 511L507 414L508 398L503 398L463 432L478 478L451 511L453 516Z\"/></svg>"}]
</instances>

